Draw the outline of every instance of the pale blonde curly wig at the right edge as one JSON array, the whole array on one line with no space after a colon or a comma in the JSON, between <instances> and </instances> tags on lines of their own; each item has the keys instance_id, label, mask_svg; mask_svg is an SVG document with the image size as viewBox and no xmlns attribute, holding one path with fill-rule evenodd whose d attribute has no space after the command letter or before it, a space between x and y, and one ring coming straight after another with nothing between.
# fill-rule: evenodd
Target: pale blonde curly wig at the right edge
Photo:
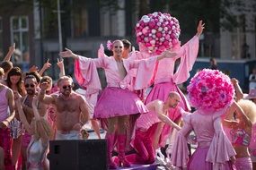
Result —
<instances>
[{"instance_id":1,"label":"pale blonde curly wig at the right edge","mask_svg":"<svg viewBox=\"0 0 256 170\"><path fill-rule=\"evenodd\" d=\"M256 122L256 105L247 99L240 99L237 104L242 107L244 114L252 123Z\"/></svg>"}]
</instances>

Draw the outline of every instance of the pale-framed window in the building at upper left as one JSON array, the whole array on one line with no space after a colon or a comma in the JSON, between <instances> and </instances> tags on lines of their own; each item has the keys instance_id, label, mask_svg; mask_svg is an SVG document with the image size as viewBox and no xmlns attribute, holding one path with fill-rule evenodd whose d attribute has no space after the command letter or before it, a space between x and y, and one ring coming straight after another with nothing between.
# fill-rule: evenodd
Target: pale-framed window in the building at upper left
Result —
<instances>
[{"instance_id":1,"label":"pale-framed window in the building at upper left","mask_svg":"<svg viewBox=\"0 0 256 170\"><path fill-rule=\"evenodd\" d=\"M16 50L12 58L13 63L28 64L30 61L28 16L11 17L11 42L16 45Z\"/></svg>"}]
</instances>

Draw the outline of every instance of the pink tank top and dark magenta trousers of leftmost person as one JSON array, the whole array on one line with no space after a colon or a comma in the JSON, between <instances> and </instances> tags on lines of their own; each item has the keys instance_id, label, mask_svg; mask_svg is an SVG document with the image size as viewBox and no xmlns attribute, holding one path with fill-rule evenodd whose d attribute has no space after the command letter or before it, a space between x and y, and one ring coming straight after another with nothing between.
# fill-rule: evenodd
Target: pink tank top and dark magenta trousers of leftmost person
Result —
<instances>
[{"instance_id":1,"label":"pink tank top and dark magenta trousers of leftmost person","mask_svg":"<svg viewBox=\"0 0 256 170\"><path fill-rule=\"evenodd\" d=\"M8 100L6 96L7 88L3 87L0 91L0 122L4 121L8 116ZM12 137L10 128L0 128L0 147L4 149L4 169L14 169L12 166Z\"/></svg>"}]
</instances>

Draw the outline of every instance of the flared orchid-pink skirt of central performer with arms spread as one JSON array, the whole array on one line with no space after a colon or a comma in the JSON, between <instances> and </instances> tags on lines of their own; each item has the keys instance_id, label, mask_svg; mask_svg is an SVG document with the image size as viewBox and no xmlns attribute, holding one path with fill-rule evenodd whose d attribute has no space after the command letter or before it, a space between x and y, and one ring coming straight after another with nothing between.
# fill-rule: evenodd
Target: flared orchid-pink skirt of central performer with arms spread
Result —
<instances>
[{"instance_id":1,"label":"flared orchid-pink skirt of central performer with arms spread","mask_svg":"<svg viewBox=\"0 0 256 170\"><path fill-rule=\"evenodd\" d=\"M128 89L107 87L94 107L93 118L110 118L147 112L146 106L136 93Z\"/></svg>"}]
</instances>

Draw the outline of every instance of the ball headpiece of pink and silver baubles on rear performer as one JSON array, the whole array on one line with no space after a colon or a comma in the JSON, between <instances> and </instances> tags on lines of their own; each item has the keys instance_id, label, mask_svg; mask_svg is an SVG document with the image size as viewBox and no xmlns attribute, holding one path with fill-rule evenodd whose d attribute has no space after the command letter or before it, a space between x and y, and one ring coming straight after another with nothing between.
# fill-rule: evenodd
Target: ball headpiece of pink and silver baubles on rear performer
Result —
<instances>
[{"instance_id":1,"label":"ball headpiece of pink and silver baubles on rear performer","mask_svg":"<svg viewBox=\"0 0 256 170\"><path fill-rule=\"evenodd\" d=\"M137 43L155 54L176 47L180 43L180 34L179 21L169 13L149 13L142 16L136 25Z\"/></svg>"}]
</instances>

